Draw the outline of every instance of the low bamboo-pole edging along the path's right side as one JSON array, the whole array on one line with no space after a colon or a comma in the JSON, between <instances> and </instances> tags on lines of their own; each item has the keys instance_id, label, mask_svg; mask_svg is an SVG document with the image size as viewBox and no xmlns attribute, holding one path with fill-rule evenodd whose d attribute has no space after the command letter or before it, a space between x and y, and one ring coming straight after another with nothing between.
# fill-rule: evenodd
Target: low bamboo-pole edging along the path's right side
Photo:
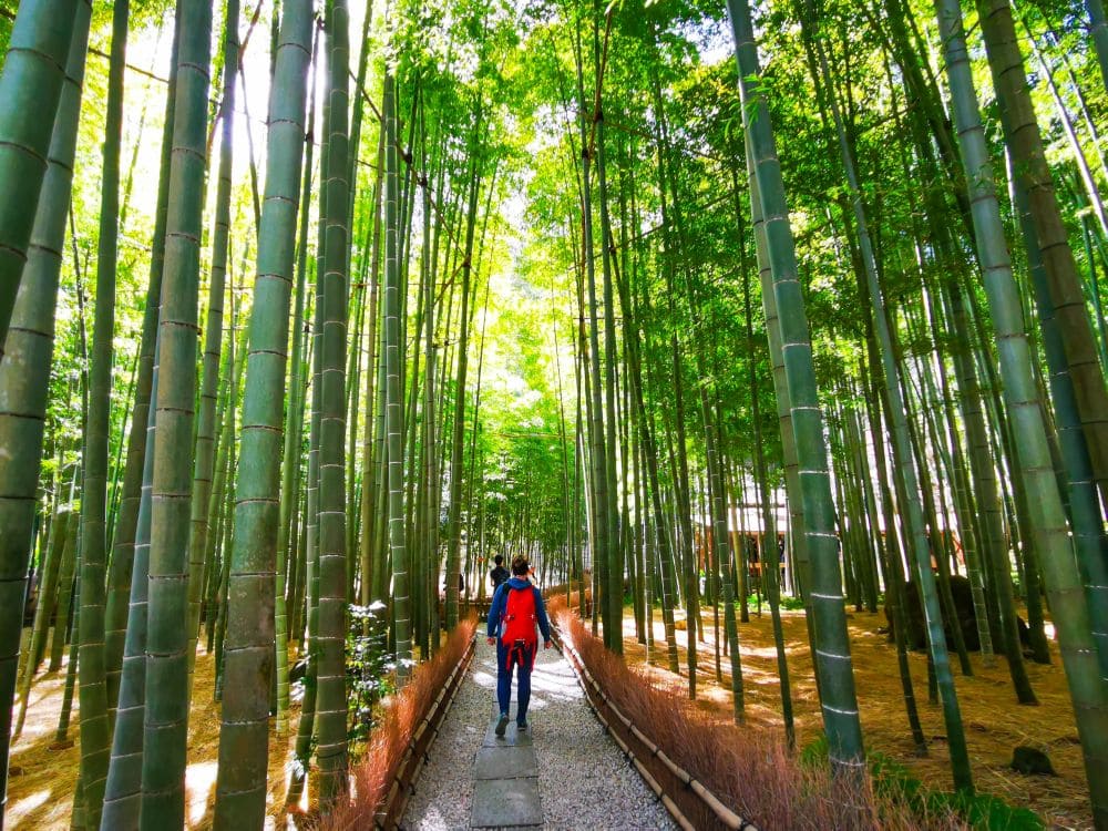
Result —
<instances>
[{"instance_id":1,"label":"low bamboo-pole edging along the path's right side","mask_svg":"<svg viewBox=\"0 0 1108 831\"><path fill-rule=\"evenodd\" d=\"M639 730L604 693L601 685L597 684L596 679L588 671L588 667L585 666L584 659L576 648L574 648L573 644L562 637L562 633L556 626L553 626L553 630L556 635L554 643L564 655L568 656L570 664L577 675L577 680L585 691L585 699L588 701L593 712L596 714L601 724L604 725L605 730L615 739L616 745L619 746L623 753L630 760L635 770L643 777L643 780L655 796L659 798L678 825L686 829L686 831L693 831L696 828L689 821L688 817L686 817L685 811L678 804L678 800L686 803L697 800L716 817L719 828L733 829L733 831L758 831L757 825L742 819L725 806L707 786L677 765L648 736ZM611 721L609 718L605 717L604 710L611 714ZM618 722L623 727L623 731L615 729L612 721ZM622 736L620 732L624 735ZM643 761L644 758L657 759L661 763L668 773L664 779L669 780L669 790L647 769ZM677 787L675 788L675 786Z\"/></svg>"}]
</instances>

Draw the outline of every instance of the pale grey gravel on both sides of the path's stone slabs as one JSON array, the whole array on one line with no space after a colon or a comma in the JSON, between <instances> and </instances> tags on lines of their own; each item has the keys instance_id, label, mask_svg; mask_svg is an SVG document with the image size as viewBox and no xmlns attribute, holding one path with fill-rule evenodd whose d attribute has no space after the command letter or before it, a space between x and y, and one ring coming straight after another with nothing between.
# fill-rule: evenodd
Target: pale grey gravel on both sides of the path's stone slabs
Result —
<instances>
[{"instance_id":1,"label":"pale grey gravel on both sides of the path's stone slabs","mask_svg":"<svg viewBox=\"0 0 1108 831\"><path fill-rule=\"evenodd\" d=\"M557 650L540 650L531 681L527 721L538 757L544 828L676 828L604 732L573 669ZM470 828L473 762L495 710L495 652L482 638L416 782L402 828Z\"/></svg>"}]
</instances>

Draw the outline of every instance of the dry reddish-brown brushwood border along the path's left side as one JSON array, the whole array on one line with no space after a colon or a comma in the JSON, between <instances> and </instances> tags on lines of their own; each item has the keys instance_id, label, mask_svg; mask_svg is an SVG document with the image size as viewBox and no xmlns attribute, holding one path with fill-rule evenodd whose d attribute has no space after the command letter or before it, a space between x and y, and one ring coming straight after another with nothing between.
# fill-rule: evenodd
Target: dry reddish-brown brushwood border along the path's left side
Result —
<instances>
[{"instance_id":1,"label":"dry reddish-brown brushwood border along the path's left side","mask_svg":"<svg viewBox=\"0 0 1108 831\"><path fill-rule=\"evenodd\" d=\"M465 654L475 628L476 620L472 618L460 623L434 658L420 664L407 686L386 702L361 761L351 773L350 799L320 822L321 831L375 827L375 815L389 796L412 736Z\"/></svg>"}]
</instances>

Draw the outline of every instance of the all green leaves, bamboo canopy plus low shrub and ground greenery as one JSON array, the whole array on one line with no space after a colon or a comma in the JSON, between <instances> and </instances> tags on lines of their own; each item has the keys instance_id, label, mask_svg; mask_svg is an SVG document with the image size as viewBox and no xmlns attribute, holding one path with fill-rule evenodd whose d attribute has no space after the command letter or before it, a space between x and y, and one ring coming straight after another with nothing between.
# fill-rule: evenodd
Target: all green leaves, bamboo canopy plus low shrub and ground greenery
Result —
<instances>
[{"instance_id":1,"label":"all green leaves, bamboo canopy plus low shrub and ground greenery","mask_svg":"<svg viewBox=\"0 0 1108 831\"><path fill-rule=\"evenodd\" d=\"M110 413L112 481L122 461L120 450L127 430L132 372L145 301L154 209L153 188L144 183L156 179L154 136L161 131L161 100L165 94L161 79L167 74L165 55L170 51L172 6L168 0L132 0L133 50L129 54L131 71L123 131L126 182L121 213L116 359L112 367ZM244 21L253 16L256 6L244 2ZM366 4L353 6L352 32L360 31ZM0 0L0 48L7 43L18 7L17 0ZM273 4L265 7L246 57L246 69L252 73L252 83L245 92L248 102L240 104L248 103L255 130L254 148L258 153L265 153L261 126L266 113L265 82L260 79L266 75L270 58L264 29ZM835 161L838 155L828 152L828 133L815 105L814 83L797 37L798 8L802 4L759 4L756 28L765 73L758 83L769 100L770 116L781 137L779 157L796 230L800 283L812 326L813 361L823 402L827 403L833 390L837 397L850 397L852 403L860 404L866 393L860 384L866 356L864 317L859 311L861 300L854 274L854 232L850 227L851 214L842 172ZM919 34L913 35L919 39L913 44L920 48L919 54L925 54L929 44L934 50L936 32L931 4L910 0L904 8L919 29ZM63 248L57 348L50 373L47 462L40 479L42 492L48 496L57 492L55 480L63 479L80 459L83 386L89 368L85 341L95 300L90 276L95 273L99 244L96 205L101 192L103 120L96 114L103 111L106 98L107 62L102 53L110 45L111 11L110 0L95 0L92 45L96 51L90 53L85 79L86 103L73 188L73 234ZM608 32L605 32L605 13L611 14ZM1032 35L1054 61L1055 70L1059 73L1071 70L1073 82L1059 75L1066 103L1076 112L1079 91L1092 123L1104 123L1108 117L1108 93L1098 75L1088 32L1078 24L1081 13L1078 4L1045 0L1022 4L1020 13ZM966 259L972 257L972 240L953 205L951 183L936 183L924 174L910 121L917 107L903 89L902 69L885 51L888 33L879 25L882 12L874 14L864 4L837 0L821 3L820 16L820 37L844 98L862 196L874 217L874 244L891 321L903 346L906 375L915 378L922 361L934 360L935 348L950 356L955 347L953 336L942 325L932 332L923 320L926 312L920 299L921 287L933 291L940 280L951 276L950 268L940 268L934 253L927 250L926 230L921 228L925 222L922 205L927 188L942 188L942 204L950 204L940 222L954 228L953 243ZM706 456L702 431L695 429L701 419L695 393L702 386L718 402L722 454L735 464L739 475L751 466L755 435L760 434L772 486L779 488L782 479L772 368L766 349L761 287L749 226L733 44L722 4L718 0L696 3L605 0L592 7L551 0L523 4L507 0L420 3L399 0L389 14L378 9L369 29L366 95L372 101L379 99L383 68L389 63L397 78L400 142L409 156L407 165L414 160L411 170L430 178L435 206L432 223L435 233L442 232L441 243L435 244L438 261L432 266L437 269L437 302L442 302L434 321L439 361L454 360L456 355L451 349L458 342L459 300L456 294L450 294L450 286L455 280L459 261L458 229L464 224L464 193L474 164L479 162L483 171L478 219L480 242L472 273L469 381L464 391L455 390L449 367L443 371L440 363L444 381L437 381L435 392L444 402L455 394L464 397L464 480L468 488L472 486L472 500L466 491L466 534L469 538L480 535L490 545L516 534L521 517L525 517L530 533L546 551L558 550L566 542L566 522L573 504L576 410L584 393L575 372L581 349L576 280L583 261L578 131L584 119L587 132L588 110L596 95L592 65L594 23L598 40L606 45L601 98L613 193L609 208L615 261L619 277L627 281L634 307L633 316L623 317L623 309L617 312L619 340L624 341L632 327L640 336L645 410L661 449L663 486L673 485L673 471L667 466L671 462L665 456L667 450L675 452L676 413L671 392L678 378L693 392L686 396L683 416L686 424L694 425L686 450L695 475L702 471ZM573 54L577 38L583 52L581 101ZM355 51L357 47L356 43ZM999 110L992 98L983 52L977 44L972 51L975 81L985 105L989 152L996 171L1001 172L1004 160L996 123ZM1028 65L1040 72L1034 62ZM217 74L218 71L213 73L213 78ZM1033 79L1033 84L1040 114L1051 113L1046 117L1056 119L1055 103L1042 74ZM246 119L240 122L245 124ZM358 193L350 217L351 273L357 266L363 277L370 270L373 250L371 196L377 130L375 120L367 115L360 144L361 164L356 167ZM1079 132L1083 130L1079 125ZM1095 234L1095 245L1088 254L1077 242L1083 212L1088 211L1087 199L1073 170L1071 151L1055 122L1050 122L1050 132L1058 141L1051 141L1047 147L1049 162L1059 174L1058 192L1066 206L1070 240L1079 266L1087 274L1091 265L1087 259L1097 252L1104 257L1101 239ZM238 138L245 136L239 134ZM1095 140L1083 133L1081 142L1090 158L1094 157ZM242 150L245 148L244 141ZM215 146L208 151L215 157ZM232 276L239 320L249 311L248 280L256 246L245 156L245 152L240 154L230 212L233 250L242 264ZM263 156L256 161L260 164L265 160ZM409 172L407 165L400 168L402 179ZM404 186L410 184L407 182ZM412 186L412 192L418 189ZM308 212L312 223L318 216L316 199L318 195ZM416 205L413 227L421 222L422 206L418 199ZM1006 205L1002 207L1005 222L1010 224L1010 212ZM205 220L203 234L208 235L211 228L212 222ZM1018 246L1012 248L1017 268L1025 268ZM404 356L409 375L403 383L410 384L408 390L418 390L423 381L422 365L419 355L412 359L411 336L417 331L418 264L427 256L418 230L410 234L402 256L407 257L402 267L407 268L404 277L409 281L403 300L404 331L410 339L410 351ZM208 279L208 245L204 244L202 281ZM1096 279L1104 286L1108 264L1097 265ZM979 286L967 285L967 295L977 307L975 317L979 316L974 321L975 328L979 326L987 331L988 310ZM749 346L745 314L748 301L752 327ZM448 314L453 317L447 319ZM683 350L677 366L670 348L674 338ZM620 342L617 350L623 348ZM620 373L626 372L623 357L619 356ZM368 377L369 371L362 369L363 377ZM758 424L751 412L751 375L761 408ZM624 382L622 378L620 383ZM627 414L623 408L620 402L620 417ZM367 406L362 410L363 418L369 409ZM419 399L410 411L419 424L422 416ZM441 407L438 417L437 437L442 441L450 434L453 408ZM411 434L417 437L416 442L422 442L418 428ZM625 463L620 458L620 464ZM367 472L357 462L351 471L353 478L348 486L351 490L359 484L363 486ZM406 475L419 473L409 469ZM449 470L440 471L444 482L449 475ZM620 470L620 475L626 481L628 473ZM747 493L745 499L750 501L752 496ZM583 506L582 516L577 517L582 529L584 511ZM440 537L441 532L442 529ZM755 596L749 598L751 606L756 602ZM766 603L765 597L762 602ZM655 596L654 603L659 605L660 598ZM798 611L803 608L803 602L783 596L781 606ZM393 668L388 663L387 623L381 608L351 608L347 674L352 691L348 724L353 738L365 738L372 726L375 705L391 693L391 683L386 680ZM917 803L921 810L952 808L983 828L1038 827L1023 815L1028 812L1014 811L991 797L967 799L925 793L906 771L897 770L880 755L872 756L871 763L881 788Z\"/></svg>"}]
</instances>

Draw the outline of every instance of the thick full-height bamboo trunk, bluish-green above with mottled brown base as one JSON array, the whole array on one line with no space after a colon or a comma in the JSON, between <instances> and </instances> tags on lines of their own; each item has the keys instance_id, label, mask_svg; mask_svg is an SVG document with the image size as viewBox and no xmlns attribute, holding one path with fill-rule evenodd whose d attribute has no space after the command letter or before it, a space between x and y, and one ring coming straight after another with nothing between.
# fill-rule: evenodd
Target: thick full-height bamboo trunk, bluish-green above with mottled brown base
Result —
<instances>
[{"instance_id":1,"label":"thick full-height bamboo trunk, bluish-green above with mottled brown base","mask_svg":"<svg viewBox=\"0 0 1108 831\"><path fill-rule=\"evenodd\" d=\"M285 3L269 101L266 195L246 359L235 538L228 576L232 599L224 640L226 680L216 828L260 825L266 814L276 558L284 556L277 550L277 526L289 335L286 321L291 306L291 240L296 238L300 196L311 24L309 0Z\"/></svg>"}]
</instances>

